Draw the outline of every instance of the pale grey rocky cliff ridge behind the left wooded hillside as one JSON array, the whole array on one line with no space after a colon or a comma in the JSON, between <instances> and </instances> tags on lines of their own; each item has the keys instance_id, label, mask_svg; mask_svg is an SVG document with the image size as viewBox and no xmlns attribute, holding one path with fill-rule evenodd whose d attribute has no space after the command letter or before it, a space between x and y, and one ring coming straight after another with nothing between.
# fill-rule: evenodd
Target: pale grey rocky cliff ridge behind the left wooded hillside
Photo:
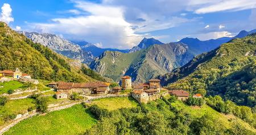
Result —
<instances>
[{"instance_id":1,"label":"pale grey rocky cliff ridge behind the left wooded hillside","mask_svg":"<svg viewBox=\"0 0 256 135\"><path fill-rule=\"evenodd\" d=\"M55 34L40 34L36 32L20 33L24 34L35 43L41 43L43 46L49 47L56 53L62 54L71 59L80 60L82 63L89 63L94 58L90 52L82 50L79 45L56 36Z\"/></svg>"}]
</instances>

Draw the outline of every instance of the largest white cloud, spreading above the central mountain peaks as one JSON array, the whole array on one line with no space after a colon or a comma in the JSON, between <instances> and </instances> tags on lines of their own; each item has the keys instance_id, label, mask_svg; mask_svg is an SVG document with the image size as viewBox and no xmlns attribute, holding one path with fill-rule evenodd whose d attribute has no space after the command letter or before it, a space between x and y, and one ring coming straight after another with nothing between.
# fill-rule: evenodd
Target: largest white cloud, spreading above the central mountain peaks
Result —
<instances>
[{"instance_id":1,"label":"largest white cloud, spreading above the central mountain peaks","mask_svg":"<svg viewBox=\"0 0 256 135\"><path fill-rule=\"evenodd\" d=\"M95 3L75 1L76 7L88 16L55 18L53 23L32 23L36 31L61 33L69 40L83 40L103 47L131 48L142 40L123 18L122 7L102 6ZM99 44L100 42L100 44Z\"/></svg>"}]
</instances>

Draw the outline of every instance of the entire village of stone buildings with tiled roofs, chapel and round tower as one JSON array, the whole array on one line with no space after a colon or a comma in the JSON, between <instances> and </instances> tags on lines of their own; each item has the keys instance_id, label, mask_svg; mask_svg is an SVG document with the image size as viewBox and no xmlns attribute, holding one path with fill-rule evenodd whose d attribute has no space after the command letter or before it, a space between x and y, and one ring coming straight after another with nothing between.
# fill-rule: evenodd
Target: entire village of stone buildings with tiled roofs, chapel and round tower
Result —
<instances>
[{"instance_id":1,"label":"entire village of stone buildings with tiled roofs, chapel and round tower","mask_svg":"<svg viewBox=\"0 0 256 135\"><path fill-rule=\"evenodd\" d=\"M22 73L19 68L15 71L0 71L0 81L18 80L22 82L31 82L38 84L39 81L31 79L27 73ZM184 90L167 90L160 86L160 80L150 79L146 83L133 83L130 76L121 78L121 87L115 86L109 88L108 82L51 82L49 87L55 89L56 99L68 98L72 93L80 95L102 95L102 94L119 94L122 90L130 90L130 95L139 103L147 103L160 98L161 96L171 94L175 95L179 100L185 101L189 97L189 93ZM200 94L193 95L195 98L201 98Z\"/></svg>"}]
</instances>

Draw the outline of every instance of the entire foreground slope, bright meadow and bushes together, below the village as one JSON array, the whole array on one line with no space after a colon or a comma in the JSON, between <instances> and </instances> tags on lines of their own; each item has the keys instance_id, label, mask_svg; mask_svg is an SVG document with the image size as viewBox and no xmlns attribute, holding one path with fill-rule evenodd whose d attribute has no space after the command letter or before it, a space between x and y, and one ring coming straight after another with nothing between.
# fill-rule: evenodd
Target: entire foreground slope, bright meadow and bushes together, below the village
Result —
<instances>
[{"instance_id":1,"label":"entire foreground slope, bright meadow and bushes together, below the village","mask_svg":"<svg viewBox=\"0 0 256 135\"><path fill-rule=\"evenodd\" d=\"M256 132L245 121L233 115L221 114L207 104L201 107L188 106L181 101L170 102L170 99L166 98L141 105L129 98L103 98L92 101L92 104L89 108L78 104L47 115L34 116L16 124L5 134L82 134L84 132L85 134L254 134Z\"/></svg>"}]
</instances>

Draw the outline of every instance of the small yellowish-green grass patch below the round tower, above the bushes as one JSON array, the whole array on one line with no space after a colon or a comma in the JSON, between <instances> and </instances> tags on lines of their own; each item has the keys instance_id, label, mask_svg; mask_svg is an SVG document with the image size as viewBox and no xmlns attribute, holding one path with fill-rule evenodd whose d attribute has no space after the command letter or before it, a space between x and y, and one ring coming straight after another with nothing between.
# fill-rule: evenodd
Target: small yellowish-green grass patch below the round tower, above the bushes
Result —
<instances>
[{"instance_id":1,"label":"small yellowish-green grass patch below the round tower, above the bushes","mask_svg":"<svg viewBox=\"0 0 256 135\"><path fill-rule=\"evenodd\" d=\"M106 108L109 111L117 110L119 108L131 108L138 105L131 97L114 97L95 99L91 104L97 104L99 107Z\"/></svg>"}]
</instances>

